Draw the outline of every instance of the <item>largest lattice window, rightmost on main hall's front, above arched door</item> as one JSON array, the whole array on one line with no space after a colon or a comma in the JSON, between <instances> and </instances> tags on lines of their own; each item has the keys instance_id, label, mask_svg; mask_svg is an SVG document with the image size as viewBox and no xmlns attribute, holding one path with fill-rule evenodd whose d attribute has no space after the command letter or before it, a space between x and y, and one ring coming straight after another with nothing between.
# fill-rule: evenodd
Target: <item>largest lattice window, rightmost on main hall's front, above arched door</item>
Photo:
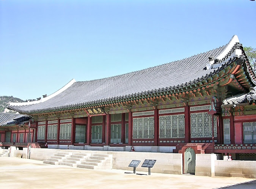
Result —
<instances>
[{"instance_id":1,"label":"largest lattice window, rightmost on main hall's front, above arched door","mask_svg":"<svg viewBox=\"0 0 256 189\"><path fill-rule=\"evenodd\" d=\"M190 114L191 138L212 137L212 115L207 112ZM217 137L217 117L214 117L214 137Z\"/></svg>"}]
</instances>

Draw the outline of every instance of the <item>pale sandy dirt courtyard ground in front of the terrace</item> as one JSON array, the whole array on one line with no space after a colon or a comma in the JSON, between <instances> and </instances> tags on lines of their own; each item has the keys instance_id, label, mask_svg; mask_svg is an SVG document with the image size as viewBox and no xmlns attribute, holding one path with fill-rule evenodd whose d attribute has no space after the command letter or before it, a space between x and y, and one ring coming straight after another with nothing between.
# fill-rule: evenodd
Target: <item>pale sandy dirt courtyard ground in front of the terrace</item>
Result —
<instances>
[{"instance_id":1,"label":"pale sandy dirt courtyard ground in front of the terrace","mask_svg":"<svg viewBox=\"0 0 256 189\"><path fill-rule=\"evenodd\" d=\"M200 177L127 170L92 170L43 164L42 161L0 157L0 189L171 188L255 189L256 180L240 177ZM235 186L232 186L235 185Z\"/></svg>"}]
</instances>

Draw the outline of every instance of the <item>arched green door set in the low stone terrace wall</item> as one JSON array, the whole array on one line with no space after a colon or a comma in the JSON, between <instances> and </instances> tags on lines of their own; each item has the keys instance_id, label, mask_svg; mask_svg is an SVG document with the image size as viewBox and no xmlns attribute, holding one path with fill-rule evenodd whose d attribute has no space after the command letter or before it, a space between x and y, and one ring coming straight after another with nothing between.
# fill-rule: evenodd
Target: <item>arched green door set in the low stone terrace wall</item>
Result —
<instances>
[{"instance_id":1,"label":"arched green door set in the low stone terrace wall","mask_svg":"<svg viewBox=\"0 0 256 189\"><path fill-rule=\"evenodd\" d=\"M184 173L195 174L196 155L192 148L187 148L184 153Z\"/></svg>"}]
</instances>

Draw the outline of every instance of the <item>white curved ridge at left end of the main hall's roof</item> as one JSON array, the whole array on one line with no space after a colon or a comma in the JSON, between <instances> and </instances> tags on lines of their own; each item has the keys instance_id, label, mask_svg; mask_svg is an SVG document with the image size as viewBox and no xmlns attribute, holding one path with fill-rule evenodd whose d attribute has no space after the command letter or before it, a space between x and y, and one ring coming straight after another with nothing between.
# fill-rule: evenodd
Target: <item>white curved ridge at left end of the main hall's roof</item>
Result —
<instances>
[{"instance_id":1,"label":"white curved ridge at left end of the main hall's roof","mask_svg":"<svg viewBox=\"0 0 256 189\"><path fill-rule=\"evenodd\" d=\"M72 84L75 83L75 79L72 79L70 82L68 82L68 84L64 85L64 87L60 88L58 91L56 91L55 93L52 93L51 95L47 96L46 98L42 98L38 101L31 101L31 102L10 102L10 106L23 106L23 105L31 105L31 104L38 104L40 102L45 102L51 98L53 98L54 96L60 94L61 92L63 92L64 90L66 90L67 88L69 88Z\"/></svg>"}]
</instances>

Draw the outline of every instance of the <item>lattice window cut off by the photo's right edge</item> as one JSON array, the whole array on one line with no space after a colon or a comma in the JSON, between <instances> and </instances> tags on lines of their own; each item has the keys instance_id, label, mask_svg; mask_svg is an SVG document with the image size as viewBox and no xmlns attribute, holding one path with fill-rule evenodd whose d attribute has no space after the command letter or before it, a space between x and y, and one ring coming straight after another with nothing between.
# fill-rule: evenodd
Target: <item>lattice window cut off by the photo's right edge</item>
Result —
<instances>
[{"instance_id":1,"label":"lattice window cut off by the photo's right edge","mask_svg":"<svg viewBox=\"0 0 256 189\"><path fill-rule=\"evenodd\" d=\"M243 123L243 143L256 143L256 122Z\"/></svg>"}]
</instances>

